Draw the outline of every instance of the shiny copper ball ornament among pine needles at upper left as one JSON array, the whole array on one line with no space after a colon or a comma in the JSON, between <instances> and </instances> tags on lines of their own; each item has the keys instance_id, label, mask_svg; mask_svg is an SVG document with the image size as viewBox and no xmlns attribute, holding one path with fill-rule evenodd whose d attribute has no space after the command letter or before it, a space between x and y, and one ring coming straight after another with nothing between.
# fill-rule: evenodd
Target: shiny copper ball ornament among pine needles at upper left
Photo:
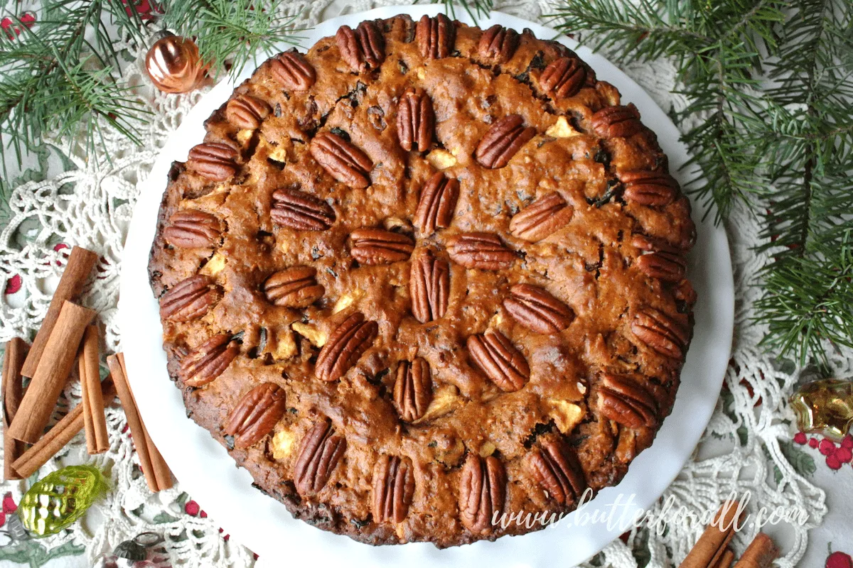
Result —
<instances>
[{"instance_id":1,"label":"shiny copper ball ornament among pine needles at upper left","mask_svg":"<svg viewBox=\"0 0 853 568\"><path fill-rule=\"evenodd\" d=\"M188 93L204 81L207 66L193 40L170 33L148 49L145 71L164 93Z\"/></svg>"}]
</instances>

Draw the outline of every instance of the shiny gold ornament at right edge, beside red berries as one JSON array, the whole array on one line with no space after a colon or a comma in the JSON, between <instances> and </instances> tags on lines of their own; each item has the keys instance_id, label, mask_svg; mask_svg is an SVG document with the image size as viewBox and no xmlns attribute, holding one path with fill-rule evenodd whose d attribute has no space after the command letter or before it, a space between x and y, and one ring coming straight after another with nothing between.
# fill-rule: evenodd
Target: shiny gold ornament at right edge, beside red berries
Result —
<instances>
[{"instance_id":1,"label":"shiny gold ornament at right edge, beside red berries","mask_svg":"<svg viewBox=\"0 0 853 568\"><path fill-rule=\"evenodd\" d=\"M853 382L809 382L792 394L791 405L801 432L841 441L853 426Z\"/></svg>"}]
</instances>

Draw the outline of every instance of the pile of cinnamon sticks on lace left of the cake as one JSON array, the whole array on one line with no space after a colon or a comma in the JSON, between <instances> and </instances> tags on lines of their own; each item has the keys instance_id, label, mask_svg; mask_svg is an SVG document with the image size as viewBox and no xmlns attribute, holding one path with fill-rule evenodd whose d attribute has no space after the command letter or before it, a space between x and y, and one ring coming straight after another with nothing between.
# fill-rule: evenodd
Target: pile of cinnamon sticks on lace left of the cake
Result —
<instances>
[{"instance_id":1,"label":"pile of cinnamon sticks on lace left of the cake","mask_svg":"<svg viewBox=\"0 0 853 568\"><path fill-rule=\"evenodd\" d=\"M94 252L75 246L32 346L27 346L26 341L19 337L6 344L3 358L3 477L29 477L80 430L85 430L86 449L90 454L107 451L109 439L104 406L113 401L118 391L148 486L152 491L167 489L171 487L171 473L144 431L127 384L126 372L124 368L120 369L119 376L111 367L112 377L101 381L98 326L92 323L97 314L74 302L96 261ZM69 411L45 433L62 389L72 376L75 360L82 404ZM30 378L26 387L25 377Z\"/></svg>"}]
</instances>

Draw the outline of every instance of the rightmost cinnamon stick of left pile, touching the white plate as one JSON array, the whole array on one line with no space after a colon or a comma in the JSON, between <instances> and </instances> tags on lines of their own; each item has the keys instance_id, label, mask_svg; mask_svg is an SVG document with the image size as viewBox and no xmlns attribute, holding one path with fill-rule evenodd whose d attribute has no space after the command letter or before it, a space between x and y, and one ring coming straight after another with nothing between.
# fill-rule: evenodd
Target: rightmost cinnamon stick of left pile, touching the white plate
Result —
<instances>
[{"instance_id":1,"label":"rightmost cinnamon stick of left pile, touching the white plate","mask_svg":"<svg viewBox=\"0 0 853 568\"><path fill-rule=\"evenodd\" d=\"M127 382L124 353L110 355L107 357L107 364L110 373L113 375L113 382L115 382L116 390L119 393L121 405L125 408L127 424L131 428L131 439L133 439L133 445L136 447L136 455L139 456L142 473L148 482L148 489L154 493L169 489L172 485L171 471L163 456L160 455L160 451L151 441L151 436L148 435L148 430L139 416L136 399L133 398L131 385Z\"/></svg>"}]
</instances>

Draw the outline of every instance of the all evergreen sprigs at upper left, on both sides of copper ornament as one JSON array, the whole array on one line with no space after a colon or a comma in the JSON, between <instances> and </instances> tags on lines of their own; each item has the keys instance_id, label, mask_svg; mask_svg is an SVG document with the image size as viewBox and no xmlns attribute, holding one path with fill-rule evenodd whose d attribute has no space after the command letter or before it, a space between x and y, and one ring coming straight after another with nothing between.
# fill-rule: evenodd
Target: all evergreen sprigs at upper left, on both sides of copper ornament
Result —
<instances>
[{"instance_id":1,"label":"all evergreen sprigs at upper left, on both sides of copper ornament","mask_svg":"<svg viewBox=\"0 0 853 568\"><path fill-rule=\"evenodd\" d=\"M125 40L144 46L146 16L171 31L194 37L212 74L228 63L239 74L260 54L294 43L293 21L281 15L281 0L170 0L154 3L154 14L139 14L137 0L44 0L34 22L24 23L18 3L7 0L3 16L14 31L0 33L0 158L11 149L20 164L49 134L60 140L83 135L90 153L103 148L110 127L140 143L144 106L135 88L123 83ZM103 152L101 152L103 153ZM109 158L107 156L107 158ZM5 160L4 171L5 171Z\"/></svg>"}]
</instances>

